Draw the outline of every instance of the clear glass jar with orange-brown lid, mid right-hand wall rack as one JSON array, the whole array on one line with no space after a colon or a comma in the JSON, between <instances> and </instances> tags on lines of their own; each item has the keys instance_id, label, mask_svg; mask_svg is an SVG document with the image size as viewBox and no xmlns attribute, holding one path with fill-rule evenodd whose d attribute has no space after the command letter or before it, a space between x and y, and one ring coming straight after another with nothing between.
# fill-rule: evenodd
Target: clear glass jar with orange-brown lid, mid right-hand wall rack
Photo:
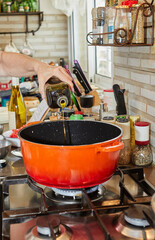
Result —
<instances>
[{"instance_id":1,"label":"clear glass jar with orange-brown lid, mid right-hand wall rack","mask_svg":"<svg viewBox=\"0 0 155 240\"><path fill-rule=\"evenodd\" d=\"M115 42L125 43L129 39L129 19L128 11L129 6L118 5L116 8L114 29L117 31ZM120 29L120 30L119 30Z\"/></svg>"}]
</instances>

